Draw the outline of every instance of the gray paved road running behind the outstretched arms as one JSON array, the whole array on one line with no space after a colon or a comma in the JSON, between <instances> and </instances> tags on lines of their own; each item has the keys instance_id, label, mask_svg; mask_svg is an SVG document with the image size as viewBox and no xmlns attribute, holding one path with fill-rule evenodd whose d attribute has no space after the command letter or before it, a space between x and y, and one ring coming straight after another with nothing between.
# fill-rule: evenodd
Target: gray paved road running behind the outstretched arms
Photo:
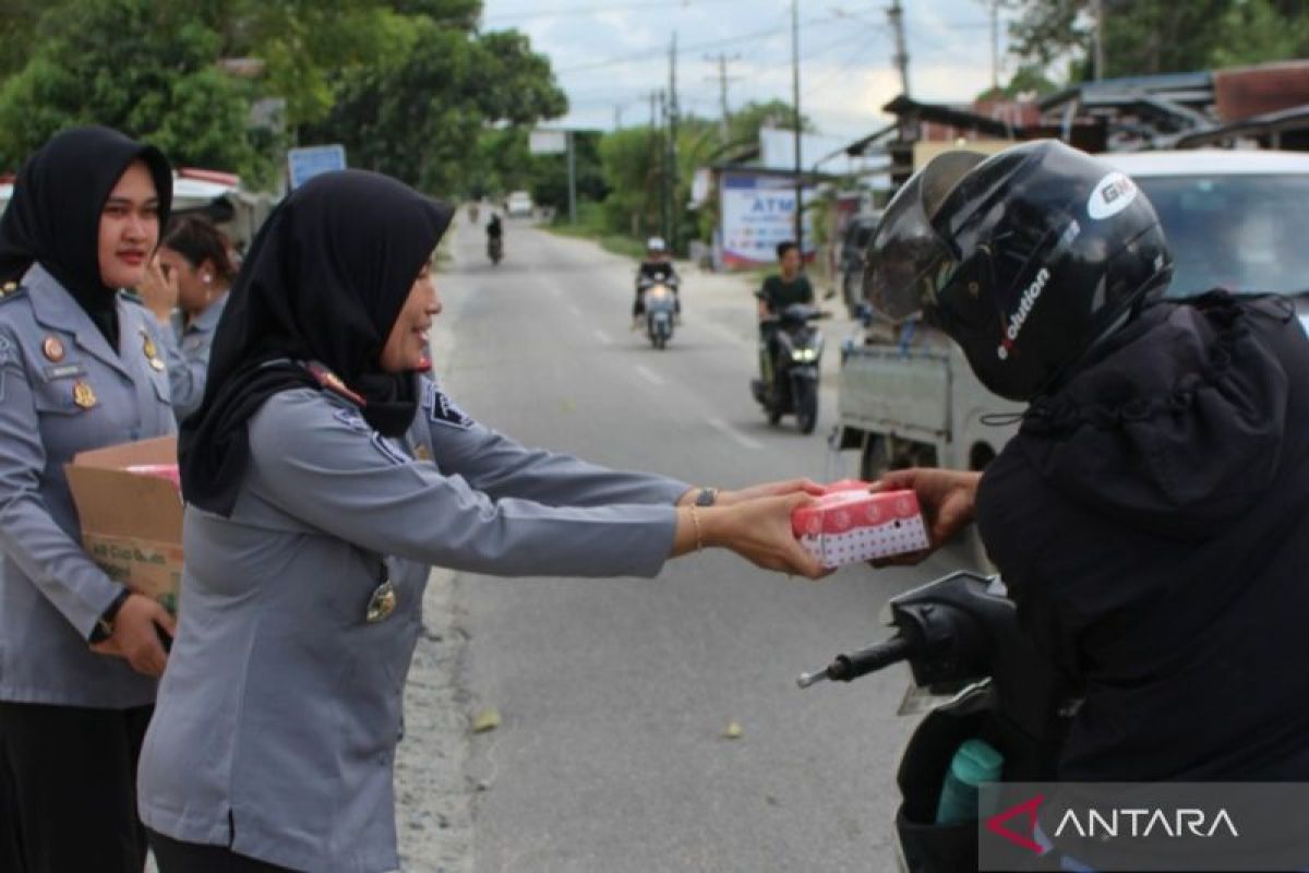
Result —
<instances>
[{"instance_id":1,"label":"gray paved road running behind the outstretched arms","mask_svg":"<svg viewBox=\"0 0 1309 873\"><path fill-rule=\"evenodd\" d=\"M818 436L830 387L809 437L768 427L750 399L753 301L736 280L686 275L686 323L657 352L627 329L630 262L517 223L503 264L480 247L478 228L456 232L433 340L446 387L475 418L530 445L690 482L843 472ZM503 717L452 753L476 787L471 831L452 839L479 872L893 869L907 673L809 691L795 677L880 639L882 602L948 560L847 568L821 584L721 552L673 561L657 580L444 579L428 623L457 652L428 668L449 674L458 724L483 707ZM724 738L729 722L740 739ZM410 743L410 759L445 758L412 732ZM407 814L402 797L402 830ZM441 864L463 861L446 852Z\"/></svg>"}]
</instances>

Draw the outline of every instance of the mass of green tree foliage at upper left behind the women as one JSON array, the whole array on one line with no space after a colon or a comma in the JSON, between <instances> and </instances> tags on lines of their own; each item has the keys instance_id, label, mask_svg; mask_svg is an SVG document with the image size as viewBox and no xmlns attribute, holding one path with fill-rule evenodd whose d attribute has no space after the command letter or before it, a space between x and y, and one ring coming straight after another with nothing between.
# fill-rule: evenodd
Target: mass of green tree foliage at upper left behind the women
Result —
<instances>
[{"instance_id":1,"label":"mass of green tree foliage at upper left behind the women","mask_svg":"<svg viewBox=\"0 0 1309 873\"><path fill-rule=\"evenodd\" d=\"M462 190L487 174L483 132L504 130L525 153L518 128L567 107L526 37L475 33L480 10L480 0L5 0L0 164L94 122L255 185L272 186L297 139L340 141L351 165ZM255 76L220 59L253 59ZM284 102L284 127L251 128L262 98ZM589 183L602 195L598 170Z\"/></svg>"}]
</instances>

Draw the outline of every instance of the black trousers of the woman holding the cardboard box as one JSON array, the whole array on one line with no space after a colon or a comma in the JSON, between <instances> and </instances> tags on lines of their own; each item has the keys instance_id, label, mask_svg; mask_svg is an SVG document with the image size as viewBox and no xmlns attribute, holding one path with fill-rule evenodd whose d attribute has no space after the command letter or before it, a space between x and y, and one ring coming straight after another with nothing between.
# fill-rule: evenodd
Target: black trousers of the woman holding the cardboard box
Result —
<instances>
[{"instance_id":1,"label":"black trousers of the woman holding the cardboard box","mask_svg":"<svg viewBox=\"0 0 1309 873\"><path fill-rule=\"evenodd\" d=\"M0 869L141 873L136 762L153 711L0 702Z\"/></svg>"}]
</instances>

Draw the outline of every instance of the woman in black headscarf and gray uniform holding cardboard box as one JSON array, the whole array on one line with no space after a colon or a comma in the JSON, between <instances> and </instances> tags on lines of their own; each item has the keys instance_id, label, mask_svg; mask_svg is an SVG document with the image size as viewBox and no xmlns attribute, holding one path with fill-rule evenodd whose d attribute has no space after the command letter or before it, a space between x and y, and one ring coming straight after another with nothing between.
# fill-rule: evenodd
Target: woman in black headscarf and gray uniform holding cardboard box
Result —
<instances>
[{"instance_id":1,"label":"woman in black headscarf and gray uniform holding cardboard box","mask_svg":"<svg viewBox=\"0 0 1309 873\"><path fill-rule=\"evenodd\" d=\"M164 156L102 127L29 158L0 220L0 866L140 873L135 764L171 619L81 547L64 465L170 433L136 285L171 200ZM130 512L124 507L124 512Z\"/></svg>"}]
</instances>

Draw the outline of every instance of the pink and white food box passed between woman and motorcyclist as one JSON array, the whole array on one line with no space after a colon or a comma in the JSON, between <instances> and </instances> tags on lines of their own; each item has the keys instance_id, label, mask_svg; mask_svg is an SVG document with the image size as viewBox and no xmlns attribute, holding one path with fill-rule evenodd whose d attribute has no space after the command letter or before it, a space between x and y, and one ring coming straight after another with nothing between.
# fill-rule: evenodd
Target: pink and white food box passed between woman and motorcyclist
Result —
<instances>
[{"instance_id":1,"label":"pink and white food box passed between woman and motorcyclist","mask_svg":"<svg viewBox=\"0 0 1309 873\"><path fill-rule=\"evenodd\" d=\"M800 544L823 567L925 551L927 526L912 491L868 493L829 487L827 493L791 514Z\"/></svg>"}]
</instances>

